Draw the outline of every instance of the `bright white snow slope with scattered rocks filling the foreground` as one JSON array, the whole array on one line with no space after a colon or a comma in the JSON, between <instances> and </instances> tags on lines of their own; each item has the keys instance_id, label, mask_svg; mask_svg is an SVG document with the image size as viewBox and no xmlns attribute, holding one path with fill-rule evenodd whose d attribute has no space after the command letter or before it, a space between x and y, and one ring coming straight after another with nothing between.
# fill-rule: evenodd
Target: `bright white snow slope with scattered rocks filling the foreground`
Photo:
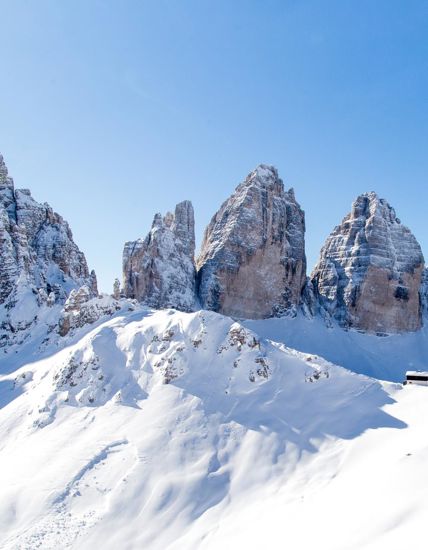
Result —
<instances>
[{"instance_id":1,"label":"bright white snow slope with scattered rocks filling the foreground","mask_svg":"<svg viewBox=\"0 0 428 550\"><path fill-rule=\"evenodd\" d=\"M213 312L67 342L1 359L1 548L426 548L428 388Z\"/></svg>"}]
</instances>

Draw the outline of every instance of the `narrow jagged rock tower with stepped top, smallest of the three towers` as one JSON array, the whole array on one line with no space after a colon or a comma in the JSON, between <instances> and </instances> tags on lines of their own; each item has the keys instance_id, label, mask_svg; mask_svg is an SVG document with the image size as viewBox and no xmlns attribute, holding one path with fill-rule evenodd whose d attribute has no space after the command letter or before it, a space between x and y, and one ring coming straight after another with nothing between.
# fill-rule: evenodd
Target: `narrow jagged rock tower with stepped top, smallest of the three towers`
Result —
<instances>
[{"instance_id":1,"label":"narrow jagged rock tower with stepped top, smallest of the three towers","mask_svg":"<svg viewBox=\"0 0 428 550\"><path fill-rule=\"evenodd\" d=\"M190 201L156 214L145 239L125 243L123 291L150 307L192 311L196 304L195 219Z\"/></svg>"}]
</instances>

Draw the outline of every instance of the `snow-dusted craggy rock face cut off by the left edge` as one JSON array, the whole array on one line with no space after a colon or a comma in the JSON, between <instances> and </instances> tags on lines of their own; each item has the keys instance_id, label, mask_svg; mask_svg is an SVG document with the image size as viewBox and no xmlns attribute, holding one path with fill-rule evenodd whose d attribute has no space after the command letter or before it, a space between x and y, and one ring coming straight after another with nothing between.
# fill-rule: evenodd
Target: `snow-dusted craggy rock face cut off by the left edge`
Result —
<instances>
[{"instance_id":1,"label":"snow-dusted craggy rock face cut off by the left edge","mask_svg":"<svg viewBox=\"0 0 428 550\"><path fill-rule=\"evenodd\" d=\"M64 302L83 284L96 292L70 228L28 189L15 189L0 155L0 340L28 328L42 305Z\"/></svg>"}]
</instances>

